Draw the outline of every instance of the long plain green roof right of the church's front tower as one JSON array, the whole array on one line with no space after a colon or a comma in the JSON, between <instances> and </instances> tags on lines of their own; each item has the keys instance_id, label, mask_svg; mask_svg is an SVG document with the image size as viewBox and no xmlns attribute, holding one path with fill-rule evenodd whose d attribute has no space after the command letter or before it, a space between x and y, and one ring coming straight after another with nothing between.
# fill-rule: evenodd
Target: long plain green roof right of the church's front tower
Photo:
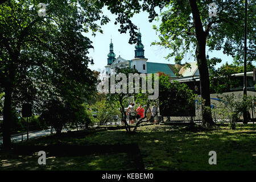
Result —
<instances>
[{"instance_id":1,"label":"long plain green roof right of the church's front tower","mask_svg":"<svg viewBox=\"0 0 256 182\"><path fill-rule=\"evenodd\" d=\"M170 77L176 77L175 73L172 72L168 64L147 62L147 73L157 73L157 72L164 72Z\"/></svg>"}]
</instances>

